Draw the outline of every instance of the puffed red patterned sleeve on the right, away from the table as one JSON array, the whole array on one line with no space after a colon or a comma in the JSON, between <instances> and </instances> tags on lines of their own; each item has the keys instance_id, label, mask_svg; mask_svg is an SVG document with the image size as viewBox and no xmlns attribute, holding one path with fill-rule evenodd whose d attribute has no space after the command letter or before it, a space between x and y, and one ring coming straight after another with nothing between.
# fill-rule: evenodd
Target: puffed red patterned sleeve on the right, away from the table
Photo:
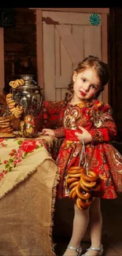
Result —
<instances>
[{"instance_id":1,"label":"puffed red patterned sleeve on the right, away from the table","mask_svg":"<svg viewBox=\"0 0 122 256\"><path fill-rule=\"evenodd\" d=\"M109 104L99 103L91 114L93 126L89 131L93 142L104 142L116 136L116 124L113 121Z\"/></svg>"}]
</instances>

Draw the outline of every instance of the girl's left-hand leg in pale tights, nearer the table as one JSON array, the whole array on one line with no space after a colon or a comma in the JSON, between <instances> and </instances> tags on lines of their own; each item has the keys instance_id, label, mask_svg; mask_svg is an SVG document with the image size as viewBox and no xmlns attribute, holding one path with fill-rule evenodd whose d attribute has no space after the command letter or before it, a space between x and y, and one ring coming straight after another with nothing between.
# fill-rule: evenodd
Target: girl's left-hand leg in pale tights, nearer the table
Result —
<instances>
[{"instance_id":1,"label":"girl's left-hand leg in pale tights, nearer the table","mask_svg":"<svg viewBox=\"0 0 122 256\"><path fill-rule=\"evenodd\" d=\"M87 230L87 225L89 223L89 209L81 211L77 208L76 204L74 208L75 216L73 220L72 238L70 239L68 245L70 247L77 248L80 247L81 239ZM64 255L75 256L77 255L77 252L75 250L66 249Z\"/></svg>"}]
</instances>

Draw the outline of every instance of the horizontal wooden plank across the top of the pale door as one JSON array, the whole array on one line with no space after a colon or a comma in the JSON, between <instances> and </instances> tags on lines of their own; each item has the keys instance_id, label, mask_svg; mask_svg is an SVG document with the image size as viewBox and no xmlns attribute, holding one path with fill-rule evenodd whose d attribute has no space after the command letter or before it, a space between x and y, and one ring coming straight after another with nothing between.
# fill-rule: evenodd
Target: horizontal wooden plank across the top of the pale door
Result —
<instances>
[{"instance_id":1,"label":"horizontal wooden plank across the top of the pale door","mask_svg":"<svg viewBox=\"0 0 122 256\"><path fill-rule=\"evenodd\" d=\"M101 17L101 14L99 14ZM91 13L60 13L60 12L43 12L44 20L51 24L82 24L82 25L91 25L90 24ZM52 20L52 21L51 21Z\"/></svg>"}]
</instances>

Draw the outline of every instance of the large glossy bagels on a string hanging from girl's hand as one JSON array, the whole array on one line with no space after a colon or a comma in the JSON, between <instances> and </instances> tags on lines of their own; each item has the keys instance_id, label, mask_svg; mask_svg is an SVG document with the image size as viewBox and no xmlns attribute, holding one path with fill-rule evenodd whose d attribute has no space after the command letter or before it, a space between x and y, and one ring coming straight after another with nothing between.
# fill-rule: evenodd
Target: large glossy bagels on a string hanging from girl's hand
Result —
<instances>
[{"instance_id":1,"label":"large glossy bagels on a string hanging from girl's hand","mask_svg":"<svg viewBox=\"0 0 122 256\"><path fill-rule=\"evenodd\" d=\"M86 210L91 206L93 199L92 191L100 191L99 176L87 167L84 141L82 139L82 152L79 159L79 166L68 168L68 174L65 178L65 185L69 190L68 197L76 201L79 210ZM83 153L85 155L85 164L80 166Z\"/></svg>"}]
</instances>

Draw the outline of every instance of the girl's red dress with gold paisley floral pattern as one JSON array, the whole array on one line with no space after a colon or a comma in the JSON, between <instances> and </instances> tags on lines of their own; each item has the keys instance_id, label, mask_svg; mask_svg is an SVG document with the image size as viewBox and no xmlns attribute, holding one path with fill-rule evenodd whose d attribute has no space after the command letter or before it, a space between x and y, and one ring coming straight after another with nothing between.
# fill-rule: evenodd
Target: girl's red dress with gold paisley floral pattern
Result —
<instances>
[{"instance_id":1,"label":"girl's red dress with gold paisley floral pattern","mask_svg":"<svg viewBox=\"0 0 122 256\"><path fill-rule=\"evenodd\" d=\"M63 123L61 128L54 130L57 137L65 137L57 156L60 173L57 198L68 196L65 187L68 167L79 165L83 146L74 135L74 132L79 130L79 125L87 129L92 136L92 143L85 145L85 152L89 169L94 170L100 177L101 197L116 198L117 194L122 192L122 156L109 143L116 135L116 124L109 104L98 100L80 102L75 106L68 104L63 112Z\"/></svg>"}]
</instances>

